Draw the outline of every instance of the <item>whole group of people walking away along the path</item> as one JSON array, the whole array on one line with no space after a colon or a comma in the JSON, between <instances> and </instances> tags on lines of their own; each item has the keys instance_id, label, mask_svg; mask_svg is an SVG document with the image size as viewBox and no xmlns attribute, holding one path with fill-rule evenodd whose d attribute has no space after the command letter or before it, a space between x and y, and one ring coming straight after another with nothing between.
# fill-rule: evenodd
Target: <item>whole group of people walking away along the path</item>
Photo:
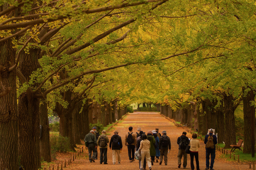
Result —
<instances>
[{"instance_id":1,"label":"whole group of people walking away along the path","mask_svg":"<svg viewBox=\"0 0 256 170\"><path fill-rule=\"evenodd\" d=\"M166 130L162 131L162 134L159 133L159 129L149 130L147 134L142 131L140 127L137 128L137 132L133 132L133 127L129 127L129 132L125 134L124 144L128 150L129 162L135 161L135 151L138 155L141 156L139 159L139 169L145 170L146 163L148 169L151 170L155 162L159 162L161 165L164 161L164 164L167 165L168 159L167 154L171 149L170 138L167 136ZM121 164L120 153L122 151L122 139L118 135L118 130L114 131L114 135L111 137L110 141L106 135L106 131L102 130L102 135L99 135L97 132L97 127L93 127L89 134L84 138L86 147L88 147L89 152L89 161L95 162L97 159L97 148L100 149L100 164L108 164L107 161L107 151L108 143L109 148L112 150L112 162L113 164ZM183 156L183 168L187 167L187 153L185 152L186 148L189 146L190 149L190 167L192 170L195 169L194 166L194 157L196 161L196 169L199 170L199 160L198 160L198 148L199 140L197 140L197 134L192 135L192 139L186 136L187 133L183 132L180 137L177 139L177 144L179 145L178 151L178 168L181 167L181 159ZM214 159L215 159L215 145L217 144L217 137L213 135L213 130L209 130L209 134L205 136L206 144L206 168L213 169ZM209 156L211 155L211 164L209 164ZM116 161L117 156L117 161ZM138 157L137 157L138 158Z\"/></svg>"}]
</instances>

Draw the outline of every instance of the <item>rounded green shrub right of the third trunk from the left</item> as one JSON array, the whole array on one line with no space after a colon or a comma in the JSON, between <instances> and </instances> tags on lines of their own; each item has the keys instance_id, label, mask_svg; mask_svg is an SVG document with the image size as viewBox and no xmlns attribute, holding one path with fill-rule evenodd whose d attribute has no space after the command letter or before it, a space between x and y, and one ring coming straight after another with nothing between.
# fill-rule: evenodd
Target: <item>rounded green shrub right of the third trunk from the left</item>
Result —
<instances>
[{"instance_id":1,"label":"rounded green shrub right of the third trunk from the left","mask_svg":"<svg viewBox=\"0 0 256 170\"><path fill-rule=\"evenodd\" d=\"M56 159L56 152L67 152L70 150L70 143L68 137L52 135L50 136L51 157Z\"/></svg>"}]
</instances>

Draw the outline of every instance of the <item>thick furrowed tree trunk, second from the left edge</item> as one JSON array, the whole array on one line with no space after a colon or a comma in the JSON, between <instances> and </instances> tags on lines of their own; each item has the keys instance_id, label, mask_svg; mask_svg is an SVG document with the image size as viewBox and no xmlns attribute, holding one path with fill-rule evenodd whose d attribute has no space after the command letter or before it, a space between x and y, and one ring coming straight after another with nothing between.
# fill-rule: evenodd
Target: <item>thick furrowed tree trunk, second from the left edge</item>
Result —
<instances>
[{"instance_id":1,"label":"thick furrowed tree trunk, second from the left edge","mask_svg":"<svg viewBox=\"0 0 256 170\"><path fill-rule=\"evenodd\" d=\"M20 55L18 69L27 81L30 80L30 75L33 71L40 68L38 62L39 56L40 49L38 48L31 48L29 54L22 52ZM21 155L20 163L25 169L37 170L41 167L39 147L39 98L34 98L34 94L31 90L28 89L20 94L18 112L18 154Z\"/></svg>"}]
</instances>

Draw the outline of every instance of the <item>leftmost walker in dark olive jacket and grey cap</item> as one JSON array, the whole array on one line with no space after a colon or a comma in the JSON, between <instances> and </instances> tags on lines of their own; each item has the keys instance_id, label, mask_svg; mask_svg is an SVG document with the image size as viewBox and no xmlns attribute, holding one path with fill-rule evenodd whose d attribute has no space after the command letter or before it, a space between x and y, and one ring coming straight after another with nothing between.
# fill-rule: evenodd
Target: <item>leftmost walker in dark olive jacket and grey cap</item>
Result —
<instances>
[{"instance_id":1,"label":"leftmost walker in dark olive jacket and grey cap","mask_svg":"<svg viewBox=\"0 0 256 170\"><path fill-rule=\"evenodd\" d=\"M89 152L89 161L90 162L95 162L94 159L96 158L96 152L97 152L97 150L96 150L97 140L93 133L94 133L94 131L91 130L90 133L85 135L85 138L84 138L84 142L86 140L88 141L88 152ZM93 155L92 155L92 152L93 152Z\"/></svg>"}]
</instances>

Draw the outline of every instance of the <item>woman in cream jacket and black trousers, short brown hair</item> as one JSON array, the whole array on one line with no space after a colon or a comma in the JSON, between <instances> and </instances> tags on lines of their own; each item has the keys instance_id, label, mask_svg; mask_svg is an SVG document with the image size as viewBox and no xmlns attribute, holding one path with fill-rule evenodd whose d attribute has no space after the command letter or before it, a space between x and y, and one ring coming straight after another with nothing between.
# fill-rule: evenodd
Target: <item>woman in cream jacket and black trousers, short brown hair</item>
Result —
<instances>
[{"instance_id":1,"label":"woman in cream jacket and black trousers, short brown hair","mask_svg":"<svg viewBox=\"0 0 256 170\"><path fill-rule=\"evenodd\" d=\"M196 139L197 138L197 134L194 133L192 135L192 139L189 141L189 146L190 146L190 167L192 170L195 169L194 166L194 156L195 156L195 160L196 160L196 169L199 169L199 160L198 160L198 148L200 148L200 144L199 144L199 140Z\"/></svg>"}]
</instances>

